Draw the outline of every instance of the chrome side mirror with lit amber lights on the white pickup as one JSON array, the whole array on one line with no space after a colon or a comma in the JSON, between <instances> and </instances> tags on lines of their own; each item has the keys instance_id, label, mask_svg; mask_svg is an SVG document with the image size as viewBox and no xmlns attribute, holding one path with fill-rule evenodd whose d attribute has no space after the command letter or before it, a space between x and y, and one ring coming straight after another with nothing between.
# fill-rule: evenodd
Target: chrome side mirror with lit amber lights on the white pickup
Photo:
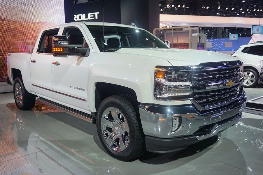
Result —
<instances>
[{"instance_id":1,"label":"chrome side mirror with lit amber lights on the white pickup","mask_svg":"<svg viewBox=\"0 0 263 175\"><path fill-rule=\"evenodd\" d=\"M64 35L55 35L52 37L53 56L63 55L86 55L88 48L83 48L82 44L69 44L69 37Z\"/></svg>"}]
</instances>

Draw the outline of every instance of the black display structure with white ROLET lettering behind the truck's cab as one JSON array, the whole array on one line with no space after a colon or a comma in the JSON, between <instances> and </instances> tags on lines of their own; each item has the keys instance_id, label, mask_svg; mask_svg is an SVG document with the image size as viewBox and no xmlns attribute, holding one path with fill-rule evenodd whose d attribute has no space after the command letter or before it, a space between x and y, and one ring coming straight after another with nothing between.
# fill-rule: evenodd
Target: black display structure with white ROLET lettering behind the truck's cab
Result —
<instances>
[{"instance_id":1,"label":"black display structure with white ROLET lettering behind the truck's cab","mask_svg":"<svg viewBox=\"0 0 263 175\"><path fill-rule=\"evenodd\" d=\"M159 27L159 0L100 0L76 3L64 0L65 22L112 22L153 32ZM104 14L104 15L103 15Z\"/></svg>"}]
</instances>

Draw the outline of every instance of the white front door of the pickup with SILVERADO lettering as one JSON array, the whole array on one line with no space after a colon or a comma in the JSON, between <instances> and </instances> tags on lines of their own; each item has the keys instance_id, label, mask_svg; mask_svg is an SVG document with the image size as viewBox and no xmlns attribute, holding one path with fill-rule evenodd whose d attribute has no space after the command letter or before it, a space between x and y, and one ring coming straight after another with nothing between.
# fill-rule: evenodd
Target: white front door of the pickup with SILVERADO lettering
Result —
<instances>
[{"instance_id":1,"label":"white front door of the pickup with SILVERADO lettering","mask_svg":"<svg viewBox=\"0 0 263 175\"><path fill-rule=\"evenodd\" d=\"M90 46L82 26L78 24L64 25L62 35L69 36L69 44ZM83 112L89 110L87 102L89 58L90 56L53 56L52 90L55 100L60 104Z\"/></svg>"}]
</instances>

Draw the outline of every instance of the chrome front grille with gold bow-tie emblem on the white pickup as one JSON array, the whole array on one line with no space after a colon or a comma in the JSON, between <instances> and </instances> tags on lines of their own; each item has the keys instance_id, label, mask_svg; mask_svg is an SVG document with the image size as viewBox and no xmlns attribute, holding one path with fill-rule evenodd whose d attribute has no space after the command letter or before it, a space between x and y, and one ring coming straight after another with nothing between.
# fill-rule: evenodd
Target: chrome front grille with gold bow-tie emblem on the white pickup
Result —
<instances>
[{"instance_id":1,"label":"chrome front grille with gold bow-tie emblem on the white pickup","mask_svg":"<svg viewBox=\"0 0 263 175\"><path fill-rule=\"evenodd\" d=\"M214 66L214 67L213 67ZM241 61L203 63L193 70L191 100L200 110L213 109L239 99L243 92Z\"/></svg>"}]
</instances>

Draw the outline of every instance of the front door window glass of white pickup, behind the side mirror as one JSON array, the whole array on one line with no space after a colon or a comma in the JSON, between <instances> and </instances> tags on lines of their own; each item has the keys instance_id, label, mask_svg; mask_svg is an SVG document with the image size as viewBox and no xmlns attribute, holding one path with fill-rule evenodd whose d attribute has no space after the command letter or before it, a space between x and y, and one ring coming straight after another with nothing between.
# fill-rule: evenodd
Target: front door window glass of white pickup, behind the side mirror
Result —
<instances>
[{"instance_id":1,"label":"front door window glass of white pickup, behind the side mirror","mask_svg":"<svg viewBox=\"0 0 263 175\"><path fill-rule=\"evenodd\" d=\"M82 32L76 27L66 27L62 35L69 36L69 44L83 45L83 48L88 47Z\"/></svg>"}]
</instances>

